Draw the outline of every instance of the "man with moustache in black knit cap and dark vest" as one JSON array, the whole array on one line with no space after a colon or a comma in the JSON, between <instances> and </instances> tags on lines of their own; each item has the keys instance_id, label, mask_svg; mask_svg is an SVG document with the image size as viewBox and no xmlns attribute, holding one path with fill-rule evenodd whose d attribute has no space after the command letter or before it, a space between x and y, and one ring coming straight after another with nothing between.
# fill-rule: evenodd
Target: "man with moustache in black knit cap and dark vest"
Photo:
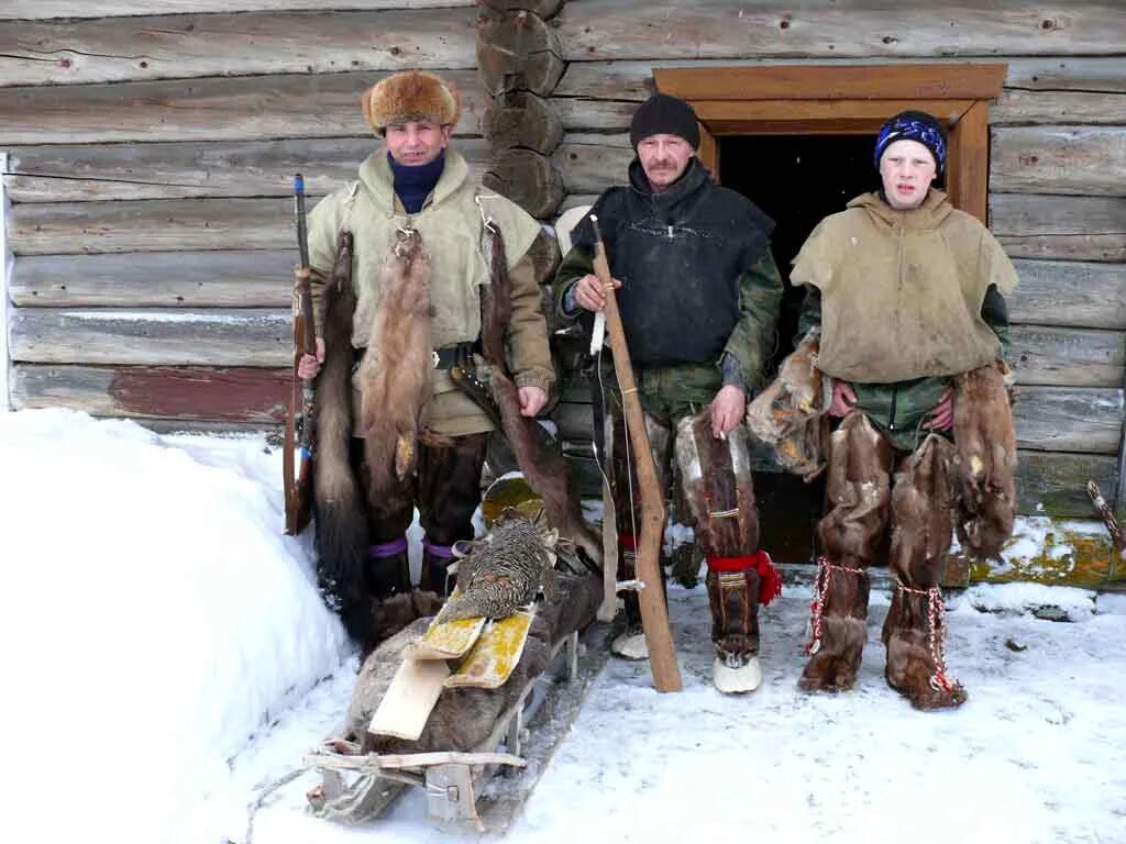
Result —
<instances>
[{"instance_id":1,"label":"man with moustache in black knit cap and dark vest","mask_svg":"<svg viewBox=\"0 0 1126 844\"><path fill-rule=\"evenodd\" d=\"M604 192L591 215L620 286L617 300L658 473L667 488L674 451L697 542L707 555L715 684L724 692L751 691L761 679L760 593L769 600L778 582L769 557L758 551L742 421L775 343L783 286L770 254L774 223L712 180L696 158L699 127L683 100L650 98L633 117L629 140L637 154L629 187ZM606 302L592 273L589 218L573 242L556 276L557 307L571 318L584 311L589 316ZM632 577L640 496L631 488L620 396L610 405L607 463L619 574ZM627 628L613 649L643 658L637 599L627 593L625 603Z\"/></svg>"}]
</instances>

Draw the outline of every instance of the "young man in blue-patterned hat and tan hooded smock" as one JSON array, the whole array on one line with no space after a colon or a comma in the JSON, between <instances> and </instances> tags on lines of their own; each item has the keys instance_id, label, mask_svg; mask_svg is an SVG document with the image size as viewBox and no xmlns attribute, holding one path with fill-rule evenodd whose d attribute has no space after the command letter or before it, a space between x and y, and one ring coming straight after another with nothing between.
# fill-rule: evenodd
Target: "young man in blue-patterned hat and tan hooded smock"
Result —
<instances>
[{"instance_id":1,"label":"young man in blue-patterned hat and tan hooded smock","mask_svg":"<svg viewBox=\"0 0 1126 844\"><path fill-rule=\"evenodd\" d=\"M891 526L886 677L923 709L966 699L942 658L938 584L951 510L963 547L983 556L999 553L1016 512L1001 356L1003 294L1017 273L985 226L932 187L945 161L933 117L890 119L875 150L882 189L822 221L790 273L810 286L798 336L820 342L814 361L831 386L828 412L842 417L829 449L831 510L819 526L824 556L799 685L852 686L867 567L888 554Z\"/></svg>"}]
</instances>

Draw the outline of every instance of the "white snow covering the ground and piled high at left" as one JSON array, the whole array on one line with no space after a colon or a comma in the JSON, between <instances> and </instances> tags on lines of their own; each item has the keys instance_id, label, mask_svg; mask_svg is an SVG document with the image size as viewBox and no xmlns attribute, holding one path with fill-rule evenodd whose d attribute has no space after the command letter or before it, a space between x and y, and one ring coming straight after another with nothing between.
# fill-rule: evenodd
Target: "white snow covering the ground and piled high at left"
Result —
<instances>
[{"instance_id":1,"label":"white snow covering the ground and piled high at left","mask_svg":"<svg viewBox=\"0 0 1126 844\"><path fill-rule=\"evenodd\" d=\"M0 414L0 836L245 841L356 671L280 536L279 454L35 411ZM763 611L762 688L725 698L704 590L671 587L683 692L610 661L508 839L1126 842L1126 598L967 590L947 656L969 701L930 713L884 683L879 589L857 689L797 692L808 600ZM315 782L265 801L256 844L448 839L420 792L366 829L312 818Z\"/></svg>"}]
</instances>

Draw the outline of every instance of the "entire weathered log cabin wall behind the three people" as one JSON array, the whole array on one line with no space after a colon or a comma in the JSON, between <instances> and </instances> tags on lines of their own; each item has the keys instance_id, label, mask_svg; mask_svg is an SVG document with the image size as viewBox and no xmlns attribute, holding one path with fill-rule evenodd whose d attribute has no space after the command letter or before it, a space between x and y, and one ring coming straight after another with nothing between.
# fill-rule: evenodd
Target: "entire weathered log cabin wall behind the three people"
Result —
<instances>
[{"instance_id":1,"label":"entire weathered log cabin wall behind the three people","mask_svg":"<svg viewBox=\"0 0 1126 844\"><path fill-rule=\"evenodd\" d=\"M291 177L304 172L314 199L352 177L374 145L358 95L387 72L453 79L471 165L549 222L622 182L654 68L1004 61L990 218L1022 279L1010 303L1022 509L1089 514L1088 477L1121 508L1120 0L334 6L0 2L14 406L276 424L291 361ZM555 417L586 454L581 390L564 398Z\"/></svg>"}]
</instances>

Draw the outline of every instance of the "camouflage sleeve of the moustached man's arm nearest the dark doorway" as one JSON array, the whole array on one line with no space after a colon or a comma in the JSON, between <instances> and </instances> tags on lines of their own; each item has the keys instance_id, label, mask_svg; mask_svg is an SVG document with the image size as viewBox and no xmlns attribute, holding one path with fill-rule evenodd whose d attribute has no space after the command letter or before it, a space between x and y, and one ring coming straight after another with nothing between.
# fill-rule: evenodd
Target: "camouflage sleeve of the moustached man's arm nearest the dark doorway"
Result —
<instances>
[{"instance_id":1,"label":"camouflage sleeve of the moustached man's arm nearest the dark doorway","mask_svg":"<svg viewBox=\"0 0 1126 844\"><path fill-rule=\"evenodd\" d=\"M774 353L783 284L774 257L767 251L739 279L739 322L724 352L739 361L743 383L758 392L766 385L766 368Z\"/></svg>"}]
</instances>

